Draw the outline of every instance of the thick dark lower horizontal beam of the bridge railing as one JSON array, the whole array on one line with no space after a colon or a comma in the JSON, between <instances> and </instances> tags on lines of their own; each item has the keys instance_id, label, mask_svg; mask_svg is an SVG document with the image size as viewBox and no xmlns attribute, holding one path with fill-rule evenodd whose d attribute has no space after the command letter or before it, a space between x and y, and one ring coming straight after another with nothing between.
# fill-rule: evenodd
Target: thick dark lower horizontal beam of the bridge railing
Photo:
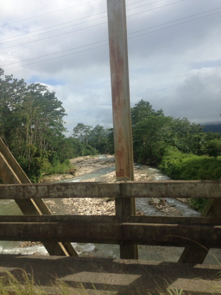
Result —
<instances>
[{"instance_id":1,"label":"thick dark lower horizontal beam of the bridge railing","mask_svg":"<svg viewBox=\"0 0 221 295\"><path fill-rule=\"evenodd\" d=\"M0 240L221 248L221 226L139 223L1 222ZM198 243L198 244L197 244Z\"/></svg>"}]
</instances>

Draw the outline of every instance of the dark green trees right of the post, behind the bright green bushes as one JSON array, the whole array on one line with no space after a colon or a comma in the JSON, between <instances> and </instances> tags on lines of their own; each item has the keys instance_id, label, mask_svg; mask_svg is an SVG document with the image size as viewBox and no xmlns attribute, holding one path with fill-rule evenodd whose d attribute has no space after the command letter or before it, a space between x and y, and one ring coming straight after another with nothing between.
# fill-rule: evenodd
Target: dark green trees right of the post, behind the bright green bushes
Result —
<instances>
[{"instance_id":1,"label":"dark green trees right of the post, behind the bright green bushes","mask_svg":"<svg viewBox=\"0 0 221 295\"><path fill-rule=\"evenodd\" d=\"M184 153L207 153L207 134L200 124L187 118L164 116L162 109L155 111L149 102L141 100L131 109L134 159L149 165L161 162L168 145ZM220 136L217 138L220 141ZM211 143L211 142L210 142Z\"/></svg>"}]
</instances>

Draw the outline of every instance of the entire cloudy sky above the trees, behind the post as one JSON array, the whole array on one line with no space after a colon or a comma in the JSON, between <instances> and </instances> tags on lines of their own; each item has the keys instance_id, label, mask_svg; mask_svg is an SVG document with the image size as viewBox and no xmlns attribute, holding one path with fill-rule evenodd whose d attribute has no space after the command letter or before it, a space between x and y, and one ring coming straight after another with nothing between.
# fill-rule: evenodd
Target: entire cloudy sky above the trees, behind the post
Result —
<instances>
[{"instance_id":1,"label":"entire cloudy sky above the trees, behind the post","mask_svg":"<svg viewBox=\"0 0 221 295\"><path fill-rule=\"evenodd\" d=\"M126 10L131 107L220 121L221 1L126 0ZM0 67L56 92L67 137L77 123L113 127L106 11L106 0L0 3Z\"/></svg>"}]
</instances>

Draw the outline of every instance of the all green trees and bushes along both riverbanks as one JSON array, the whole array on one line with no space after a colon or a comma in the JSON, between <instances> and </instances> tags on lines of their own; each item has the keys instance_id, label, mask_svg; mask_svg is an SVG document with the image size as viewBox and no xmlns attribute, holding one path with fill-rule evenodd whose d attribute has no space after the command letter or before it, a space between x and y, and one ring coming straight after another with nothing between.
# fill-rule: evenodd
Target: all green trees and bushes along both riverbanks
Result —
<instances>
[{"instance_id":1,"label":"all green trees and bushes along both riverbanks","mask_svg":"<svg viewBox=\"0 0 221 295\"><path fill-rule=\"evenodd\" d=\"M65 116L55 92L4 76L0 69L0 137L32 182L42 172L66 169L67 159L114 153L113 129L78 123L66 138ZM220 178L220 133L203 132L187 118L164 116L144 100L131 108L131 120L135 161L158 166L175 180Z\"/></svg>"}]
</instances>

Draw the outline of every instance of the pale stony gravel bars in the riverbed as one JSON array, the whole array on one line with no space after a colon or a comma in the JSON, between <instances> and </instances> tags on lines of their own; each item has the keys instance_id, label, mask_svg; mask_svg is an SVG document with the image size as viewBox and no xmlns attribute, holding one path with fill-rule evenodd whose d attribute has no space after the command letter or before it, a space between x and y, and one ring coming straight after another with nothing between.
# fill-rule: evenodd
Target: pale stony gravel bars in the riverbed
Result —
<instances>
[{"instance_id":1,"label":"pale stony gravel bars in the riverbed","mask_svg":"<svg viewBox=\"0 0 221 295\"><path fill-rule=\"evenodd\" d=\"M75 165L76 173L75 176L79 177L85 175L86 173L94 172L105 167L115 166L113 161L113 156L108 155L107 159L99 159L98 157L77 157L71 159L71 163ZM72 175L55 175L55 176L45 176L45 181L57 181L65 178L73 178ZM152 177L142 170L134 170L134 180L135 181L148 181L152 180ZM94 182L98 181L97 178L89 178L86 180L81 180L82 182ZM99 177L99 181L112 182L116 181L115 171L104 174ZM73 199L62 199L62 200L46 200L46 204L50 208L53 214L61 214L62 211L65 214L75 214L75 215L115 215L115 202L114 199L93 199L93 198L73 198ZM150 204L156 207L157 211L163 212L165 215L171 216L182 216L175 207L169 206L166 202L161 202L159 199L150 200ZM154 209L153 209L154 211ZM64 213L62 213L64 214ZM142 209L138 210L138 214L143 214Z\"/></svg>"}]
</instances>

